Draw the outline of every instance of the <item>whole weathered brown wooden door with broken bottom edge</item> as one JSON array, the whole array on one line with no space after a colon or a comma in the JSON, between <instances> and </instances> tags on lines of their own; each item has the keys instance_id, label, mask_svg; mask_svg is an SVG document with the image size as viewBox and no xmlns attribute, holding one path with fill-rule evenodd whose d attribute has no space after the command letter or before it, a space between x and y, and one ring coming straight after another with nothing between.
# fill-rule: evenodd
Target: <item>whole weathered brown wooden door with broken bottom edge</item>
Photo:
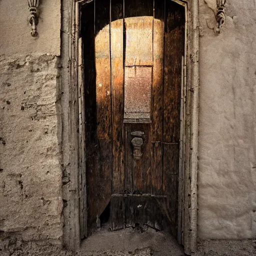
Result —
<instances>
[{"instance_id":1,"label":"whole weathered brown wooden door with broken bottom edge","mask_svg":"<svg viewBox=\"0 0 256 256\"><path fill-rule=\"evenodd\" d=\"M88 230L177 231L184 8L171 0L83 5Z\"/></svg>"}]
</instances>

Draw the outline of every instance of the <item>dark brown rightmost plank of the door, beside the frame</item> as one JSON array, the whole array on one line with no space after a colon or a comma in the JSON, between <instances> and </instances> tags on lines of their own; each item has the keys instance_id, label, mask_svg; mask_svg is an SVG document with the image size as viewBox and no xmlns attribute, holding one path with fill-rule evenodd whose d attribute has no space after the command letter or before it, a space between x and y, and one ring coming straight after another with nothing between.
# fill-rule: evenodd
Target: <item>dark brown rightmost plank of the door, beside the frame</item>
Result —
<instances>
[{"instance_id":1,"label":"dark brown rightmost plank of the door, beside the frame","mask_svg":"<svg viewBox=\"0 0 256 256\"><path fill-rule=\"evenodd\" d=\"M163 91L163 193L172 233L177 233L177 176L179 163L180 88L184 54L184 9L165 3L164 91Z\"/></svg>"}]
</instances>

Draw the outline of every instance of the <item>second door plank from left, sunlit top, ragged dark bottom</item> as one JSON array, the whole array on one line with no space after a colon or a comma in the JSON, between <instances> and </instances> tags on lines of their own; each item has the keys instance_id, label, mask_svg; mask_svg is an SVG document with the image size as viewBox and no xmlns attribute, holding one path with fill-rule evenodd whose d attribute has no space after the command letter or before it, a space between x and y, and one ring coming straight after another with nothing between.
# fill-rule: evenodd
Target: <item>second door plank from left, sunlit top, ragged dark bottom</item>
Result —
<instances>
[{"instance_id":1,"label":"second door plank from left, sunlit top, ragged dark bottom","mask_svg":"<svg viewBox=\"0 0 256 256\"><path fill-rule=\"evenodd\" d=\"M111 197L112 125L110 78L110 1L95 1L96 134L98 162L95 165L94 201L90 205L99 216ZM95 177L98 177L95 180ZM98 182L98 183L97 183ZM93 216L96 218L96 214Z\"/></svg>"}]
</instances>

